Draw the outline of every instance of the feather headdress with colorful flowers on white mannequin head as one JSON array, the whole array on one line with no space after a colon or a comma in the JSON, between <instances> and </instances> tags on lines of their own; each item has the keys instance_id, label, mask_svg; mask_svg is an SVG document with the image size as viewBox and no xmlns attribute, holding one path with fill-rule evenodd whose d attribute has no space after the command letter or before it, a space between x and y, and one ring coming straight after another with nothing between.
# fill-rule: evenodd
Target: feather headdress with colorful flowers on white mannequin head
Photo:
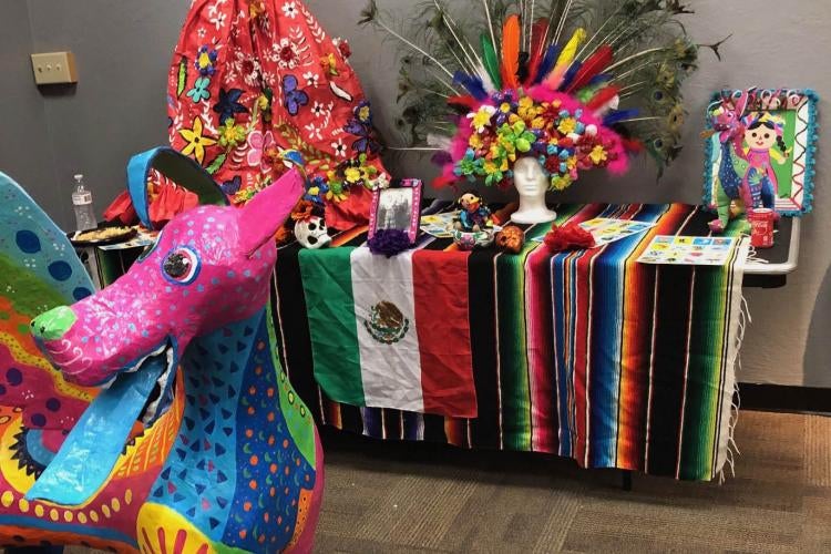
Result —
<instances>
[{"instance_id":1,"label":"feather headdress with colorful flowers on white mannequin head","mask_svg":"<svg viewBox=\"0 0 831 554\"><path fill-rule=\"evenodd\" d=\"M628 153L647 151L659 175L678 154L680 84L699 50L677 19L691 13L681 0L466 2L460 25L428 0L407 18L414 32L397 31L376 0L361 13L409 51L397 124L413 146L452 137L434 148L447 152L434 156L437 186L504 184L516 157L535 156L564 188L582 170L625 170ZM719 45L708 48L718 57Z\"/></svg>"}]
</instances>

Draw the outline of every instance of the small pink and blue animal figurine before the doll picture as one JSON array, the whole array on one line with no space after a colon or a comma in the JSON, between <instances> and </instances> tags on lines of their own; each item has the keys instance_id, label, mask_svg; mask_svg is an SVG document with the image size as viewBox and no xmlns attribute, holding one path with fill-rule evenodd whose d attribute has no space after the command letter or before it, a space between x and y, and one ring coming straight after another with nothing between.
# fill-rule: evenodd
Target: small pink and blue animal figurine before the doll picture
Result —
<instances>
[{"instance_id":1,"label":"small pink and blue animal figurine before the doll picture","mask_svg":"<svg viewBox=\"0 0 831 554\"><path fill-rule=\"evenodd\" d=\"M717 233L725 229L731 216L742 211L758 207L774 208L774 194L762 194L761 187L755 189L748 178L751 163L742 145L746 131L742 114L751 100L752 91L743 92L737 98L722 95L709 113L710 125L721 144L719 186L714 198L718 218L709 224L710 229Z\"/></svg>"}]
</instances>

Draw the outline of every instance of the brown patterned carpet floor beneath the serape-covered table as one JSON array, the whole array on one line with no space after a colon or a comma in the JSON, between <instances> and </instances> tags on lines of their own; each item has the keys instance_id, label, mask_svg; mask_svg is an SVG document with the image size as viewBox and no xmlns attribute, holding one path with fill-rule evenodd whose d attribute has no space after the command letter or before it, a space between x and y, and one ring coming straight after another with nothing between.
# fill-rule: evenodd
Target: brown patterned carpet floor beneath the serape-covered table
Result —
<instances>
[{"instance_id":1,"label":"brown patterned carpet floor beneath the serape-covered table","mask_svg":"<svg viewBox=\"0 0 831 554\"><path fill-rule=\"evenodd\" d=\"M742 411L736 476L628 492L554 456L322 434L319 553L831 552L831 418Z\"/></svg>"}]
</instances>

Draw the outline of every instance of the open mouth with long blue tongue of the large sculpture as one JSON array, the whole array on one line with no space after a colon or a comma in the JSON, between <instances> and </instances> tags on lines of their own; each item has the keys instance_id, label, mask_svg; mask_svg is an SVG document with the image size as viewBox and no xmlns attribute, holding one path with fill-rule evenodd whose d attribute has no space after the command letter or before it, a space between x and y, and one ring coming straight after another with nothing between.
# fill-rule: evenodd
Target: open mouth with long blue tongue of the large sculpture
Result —
<instances>
[{"instance_id":1,"label":"open mouth with long blue tongue of the large sculpture","mask_svg":"<svg viewBox=\"0 0 831 554\"><path fill-rule=\"evenodd\" d=\"M86 502L106 482L135 422L150 427L173 403L177 367L177 345L168 338L102 384L27 497Z\"/></svg>"}]
</instances>

